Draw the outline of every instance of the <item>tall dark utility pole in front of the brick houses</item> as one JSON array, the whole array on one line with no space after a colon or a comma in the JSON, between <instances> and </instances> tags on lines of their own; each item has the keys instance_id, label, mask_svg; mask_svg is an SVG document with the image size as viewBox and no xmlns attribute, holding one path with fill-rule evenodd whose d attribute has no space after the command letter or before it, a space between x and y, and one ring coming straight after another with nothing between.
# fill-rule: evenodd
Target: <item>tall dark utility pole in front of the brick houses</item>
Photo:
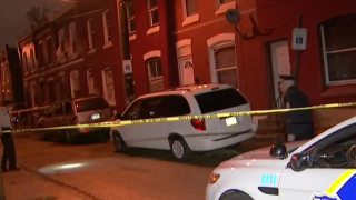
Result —
<instances>
[{"instance_id":1,"label":"tall dark utility pole in front of the brick houses","mask_svg":"<svg viewBox=\"0 0 356 200\"><path fill-rule=\"evenodd\" d=\"M126 94L127 104L135 99L134 90L134 76L132 76L132 62L130 53L130 40L128 33L127 23L127 1L117 0L119 7L119 32L120 32L120 51L122 59L122 71L123 71L123 91Z\"/></svg>"}]
</instances>

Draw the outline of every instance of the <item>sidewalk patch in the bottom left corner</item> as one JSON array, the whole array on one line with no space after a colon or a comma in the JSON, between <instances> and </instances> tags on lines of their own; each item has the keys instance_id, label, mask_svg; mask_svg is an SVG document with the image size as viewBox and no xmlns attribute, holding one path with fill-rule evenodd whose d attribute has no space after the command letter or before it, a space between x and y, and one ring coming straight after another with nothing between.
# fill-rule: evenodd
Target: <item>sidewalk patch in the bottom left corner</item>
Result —
<instances>
[{"instance_id":1,"label":"sidewalk patch in the bottom left corner","mask_svg":"<svg viewBox=\"0 0 356 200\"><path fill-rule=\"evenodd\" d=\"M86 200L73 190L41 180L24 171L2 173L7 200Z\"/></svg>"}]
</instances>

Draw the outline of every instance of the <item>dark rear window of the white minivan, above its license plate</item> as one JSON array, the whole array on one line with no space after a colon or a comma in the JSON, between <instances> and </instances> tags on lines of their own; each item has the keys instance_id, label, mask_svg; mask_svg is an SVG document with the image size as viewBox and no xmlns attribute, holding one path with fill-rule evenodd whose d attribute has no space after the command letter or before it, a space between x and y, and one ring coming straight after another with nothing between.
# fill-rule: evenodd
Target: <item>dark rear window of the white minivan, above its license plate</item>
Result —
<instances>
[{"instance_id":1,"label":"dark rear window of the white minivan, above its license plate","mask_svg":"<svg viewBox=\"0 0 356 200\"><path fill-rule=\"evenodd\" d=\"M207 93L196 94L195 98L200 107L201 114L248 103L234 88L212 90Z\"/></svg>"}]
</instances>

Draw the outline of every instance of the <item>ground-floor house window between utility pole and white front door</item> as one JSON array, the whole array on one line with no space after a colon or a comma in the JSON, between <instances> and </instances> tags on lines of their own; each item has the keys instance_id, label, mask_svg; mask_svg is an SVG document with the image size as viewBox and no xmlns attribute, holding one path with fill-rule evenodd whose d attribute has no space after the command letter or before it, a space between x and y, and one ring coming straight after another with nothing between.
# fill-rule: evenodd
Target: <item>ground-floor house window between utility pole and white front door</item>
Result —
<instances>
[{"instance_id":1,"label":"ground-floor house window between utility pole and white front door","mask_svg":"<svg viewBox=\"0 0 356 200\"><path fill-rule=\"evenodd\" d=\"M147 62L148 90L149 92L161 91L165 89L164 76L160 58L150 58Z\"/></svg>"}]
</instances>

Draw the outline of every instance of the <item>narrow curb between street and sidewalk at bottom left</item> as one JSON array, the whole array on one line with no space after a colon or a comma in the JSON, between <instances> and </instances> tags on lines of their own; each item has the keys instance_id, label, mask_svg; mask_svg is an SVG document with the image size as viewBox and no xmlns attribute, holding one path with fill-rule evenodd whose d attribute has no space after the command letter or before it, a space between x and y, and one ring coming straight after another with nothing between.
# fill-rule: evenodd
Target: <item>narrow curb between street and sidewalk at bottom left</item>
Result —
<instances>
[{"instance_id":1,"label":"narrow curb between street and sidewalk at bottom left","mask_svg":"<svg viewBox=\"0 0 356 200\"><path fill-rule=\"evenodd\" d=\"M23 166L23 164L18 163L18 166L20 167L21 171L23 171L23 172L27 172L27 173L29 173L29 174L32 174L32 176L34 176L34 177L38 177L38 178L40 178L40 179L42 179L42 180L46 180L46 181L56 183L56 184L58 184L58 186L60 186L60 187L63 187L63 188L73 190L73 191L76 191L76 192L78 192L78 193L81 193L81 194L86 196L87 198L92 199L92 200L109 200L109 199L105 199L105 198L101 198L101 197L99 197L99 196L92 194L92 193L90 193L90 192L88 192L88 191L86 191L86 190L79 189L79 188L76 187L76 186L71 186L71 184L67 184L67 183L63 183L63 182L61 182L61 181L58 181L58 180L56 180L56 179L53 179L53 178L50 178L50 177L48 177L48 176L44 176L44 174L42 174L42 173L40 173L40 172L38 172L38 171L36 171L36 170L32 170L32 169L30 169L30 168L27 168L27 167Z\"/></svg>"}]
</instances>

